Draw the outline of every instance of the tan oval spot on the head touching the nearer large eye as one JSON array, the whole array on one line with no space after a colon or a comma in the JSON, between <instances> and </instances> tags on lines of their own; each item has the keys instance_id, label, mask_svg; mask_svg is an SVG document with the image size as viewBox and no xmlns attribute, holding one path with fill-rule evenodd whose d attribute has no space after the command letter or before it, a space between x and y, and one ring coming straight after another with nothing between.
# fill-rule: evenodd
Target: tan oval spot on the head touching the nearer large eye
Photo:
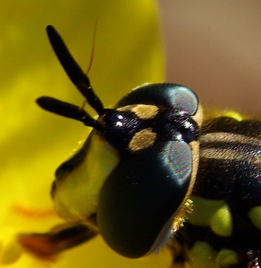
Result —
<instances>
[{"instance_id":1,"label":"tan oval spot on the head touching the nearer large eye","mask_svg":"<svg viewBox=\"0 0 261 268\"><path fill-rule=\"evenodd\" d=\"M134 134L128 147L134 152L141 150L150 146L155 141L156 136L156 133L152 132L152 128L145 128Z\"/></svg>"}]
</instances>

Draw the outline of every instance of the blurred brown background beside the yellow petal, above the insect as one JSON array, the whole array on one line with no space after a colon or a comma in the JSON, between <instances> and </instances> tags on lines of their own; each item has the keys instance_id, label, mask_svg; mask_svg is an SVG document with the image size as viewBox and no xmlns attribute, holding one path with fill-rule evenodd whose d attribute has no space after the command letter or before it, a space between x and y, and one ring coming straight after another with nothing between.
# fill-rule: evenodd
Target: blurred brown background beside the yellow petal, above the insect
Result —
<instances>
[{"instance_id":1,"label":"blurred brown background beside the yellow petal, above the insect","mask_svg":"<svg viewBox=\"0 0 261 268\"><path fill-rule=\"evenodd\" d=\"M261 1L161 0L167 82L261 116Z\"/></svg>"}]
</instances>

